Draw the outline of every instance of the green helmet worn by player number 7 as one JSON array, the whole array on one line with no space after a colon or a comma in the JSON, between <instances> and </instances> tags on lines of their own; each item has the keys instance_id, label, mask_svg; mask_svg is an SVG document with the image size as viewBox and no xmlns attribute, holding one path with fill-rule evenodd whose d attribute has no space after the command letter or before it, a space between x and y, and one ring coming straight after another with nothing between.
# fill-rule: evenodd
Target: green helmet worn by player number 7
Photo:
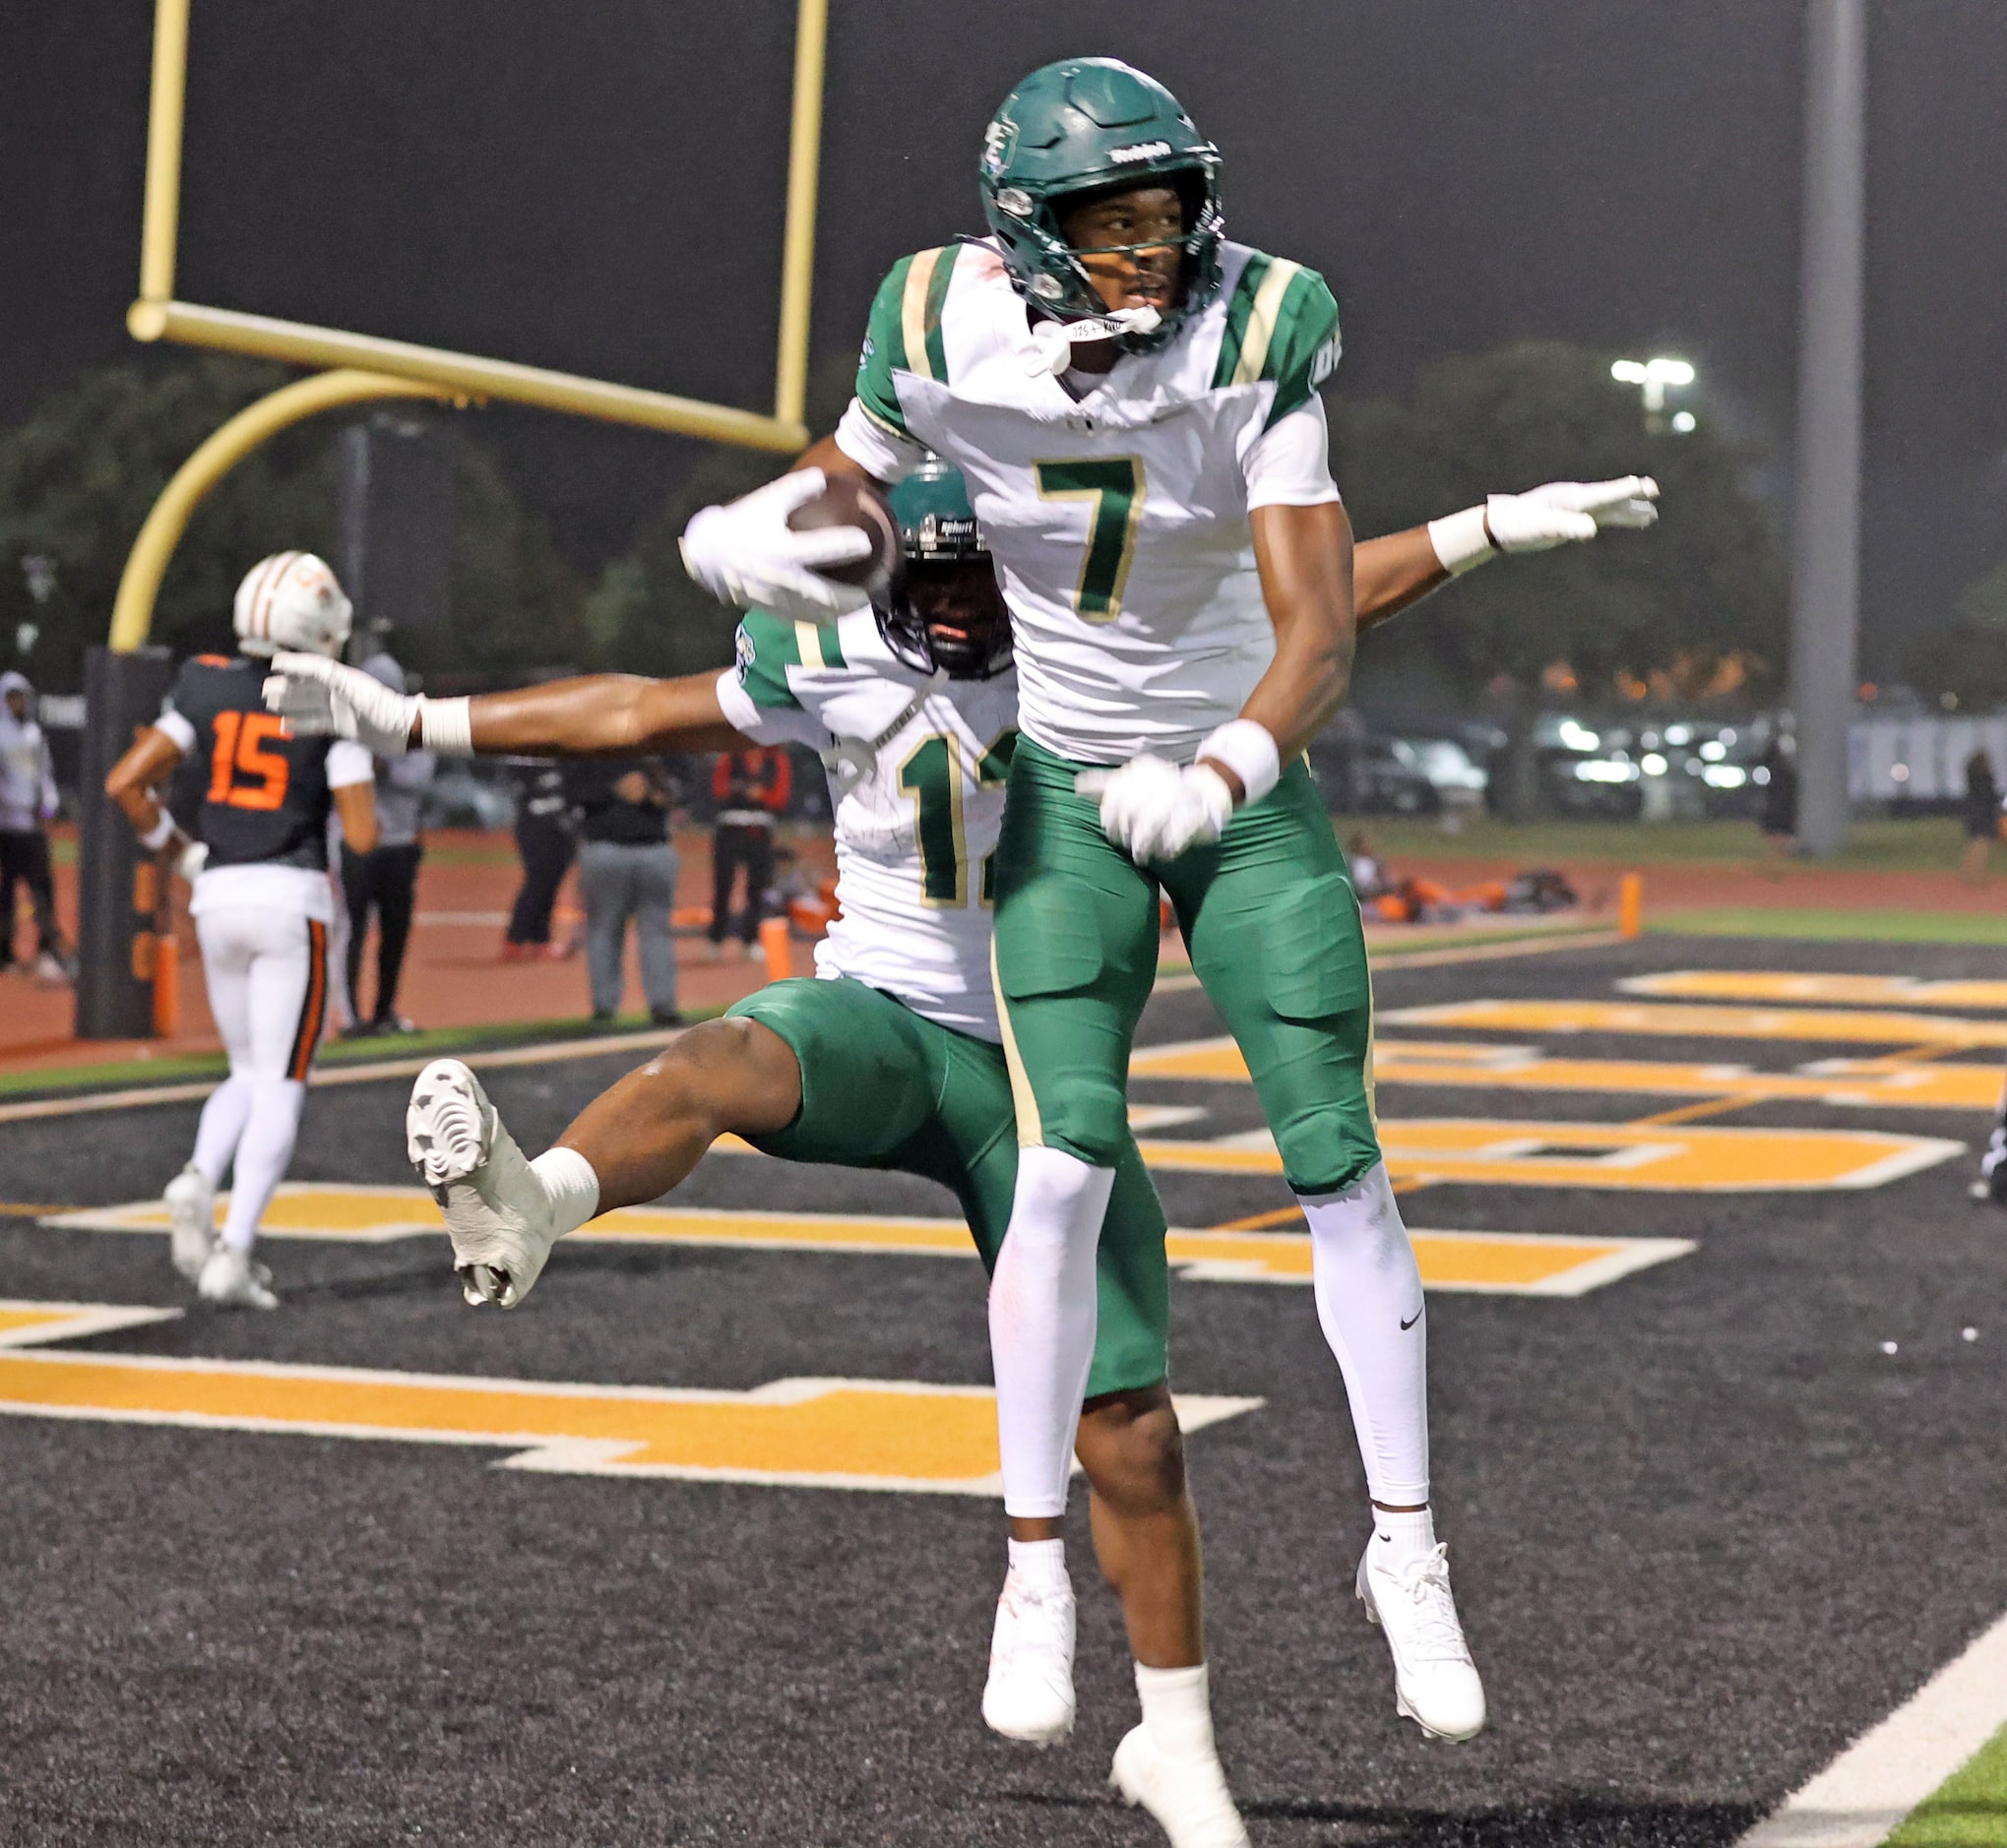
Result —
<instances>
[{"instance_id":1,"label":"green helmet worn by player number 7","mask_svg":"<svg viewBox=\"0 0 2007 1848\"><path fill-rule=\"evenodd\" d=\"M1108 313L1060 231L1060 203L1146 181L1168 181L1184 201L1184 261L1170 313L1148 333L1122 333L1122 345L1132 353L1166 345L1220 291L1220 150L1170 90L1120 58L1062 58L1034 70L983 132L977 179L1014 287L1056 321Z\"/></svg>"}]
</instances>

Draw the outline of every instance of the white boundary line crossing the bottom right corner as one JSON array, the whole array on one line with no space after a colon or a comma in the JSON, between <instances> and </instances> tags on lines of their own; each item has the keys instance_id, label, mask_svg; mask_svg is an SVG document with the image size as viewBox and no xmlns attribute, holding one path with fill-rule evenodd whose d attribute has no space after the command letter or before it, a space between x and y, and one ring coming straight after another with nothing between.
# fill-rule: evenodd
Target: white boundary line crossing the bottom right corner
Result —
<instances>
[{"instance_id":1,"label":"white boundary line crossing the bottom right corner","mask_svg":"<svg viewBox=\"0 0 2007 1848\"><path fill-rule=\"evenodd\" d=\"M2007 1617L1941 1667L1736 1848L1877 1848L2007 1720Z\"/></svg>"}]
</instances>

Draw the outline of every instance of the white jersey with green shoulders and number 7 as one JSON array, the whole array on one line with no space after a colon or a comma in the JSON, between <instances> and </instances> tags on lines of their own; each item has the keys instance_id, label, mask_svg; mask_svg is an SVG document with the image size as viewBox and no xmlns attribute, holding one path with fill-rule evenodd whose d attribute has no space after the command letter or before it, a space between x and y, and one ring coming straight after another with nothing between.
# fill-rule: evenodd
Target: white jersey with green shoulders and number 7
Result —
<instances>
[{"instance_id":1,"label":"white jersey with green shoulders and number 7","mask_svg":"<svg viewBox=\"0 0 2007 1848\"><path fill-rule=\"evenodd\" d=\"M1012 606L1026 736L1074 762L1180 762L1274 658L1250 510L1337 500L1317 387L1339 309L1301 263L1226 245L1222 289L1156 353L1068 385L985 243L893 267L843 449L969 482ZM1092 385L1092 389L1088 389Z\"/></svg>"}]
</instances>

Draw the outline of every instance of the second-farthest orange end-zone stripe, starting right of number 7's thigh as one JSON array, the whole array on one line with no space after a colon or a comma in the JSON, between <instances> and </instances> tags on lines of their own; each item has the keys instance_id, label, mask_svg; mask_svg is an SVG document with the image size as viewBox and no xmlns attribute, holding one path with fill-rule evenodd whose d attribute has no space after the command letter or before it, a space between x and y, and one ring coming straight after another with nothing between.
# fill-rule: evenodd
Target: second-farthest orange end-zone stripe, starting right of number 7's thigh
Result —
<instances>
[{"instance_id":1,"label":"second-farthest orange end-zone stripe, starting right of number 7's thigh","mask_svg":"<svg viewBox=\"0 0 2007 1848\"><path fill-rule=\"evenodd\" d=\"M1680 1039L1854 1039L1877 1045L2007 1045L2007 1019L1838 1007L1706 1007L1670 1001L1445 1001L1393 1007L1383 1027L1489 1033L1670 1033Z\"/></svg>"}]
</instances>

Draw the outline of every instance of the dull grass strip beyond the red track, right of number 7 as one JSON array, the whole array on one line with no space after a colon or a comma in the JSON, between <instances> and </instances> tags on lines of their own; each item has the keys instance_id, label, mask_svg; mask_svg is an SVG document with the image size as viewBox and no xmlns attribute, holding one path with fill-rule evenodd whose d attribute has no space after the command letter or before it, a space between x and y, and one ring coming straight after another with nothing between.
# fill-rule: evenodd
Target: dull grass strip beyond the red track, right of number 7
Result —
<instances>
[{"instance_id":1,"label":"dull grass strip beyond the red track, right of number 7","mask_svg":"<svg viewBox=\"0 0 2007 1848\"><path fill-rule=\"evenodd\" d=\"M1433 821L1395 821L1377 815L1339 815L1335 823L1341 841L1363 829L1395 865L1403 855L1507 859L1523 867L1557 861L1608 861L1612 867L1692 861L1754 865L1762 859L1762 839L1752 821L1541 821L1521 827L1485 817L1465 823L1455 835L1445 835ZM1951 871L1959 863L1963 845L1965 837L1953 817L1860 821L1854 823L1844 853L1804 865L1854 873Z\"/></svg>"}]
</instances>

